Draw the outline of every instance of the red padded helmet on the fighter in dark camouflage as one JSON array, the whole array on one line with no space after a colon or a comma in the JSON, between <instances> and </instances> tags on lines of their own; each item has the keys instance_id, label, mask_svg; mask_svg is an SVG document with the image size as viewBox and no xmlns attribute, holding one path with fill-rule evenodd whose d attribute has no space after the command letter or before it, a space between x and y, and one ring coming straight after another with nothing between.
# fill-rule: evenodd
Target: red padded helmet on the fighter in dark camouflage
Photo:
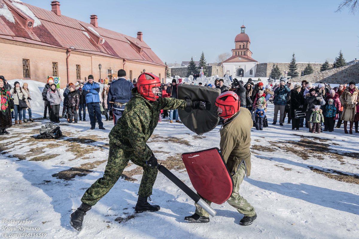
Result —
<instances>
[{"instance_id":1,"label":"red padded helmet on the fighter in dark camouflage","mask_svg":"<svg viewBox=\"0 0 359 239\"><path fill-rule=\"evenodd\" d=\"M152 73L142 73L137 78L137 91L141 96L143 96L146 100L155 101L162 95L162 87L161 82L158 76L153 75ZM152 89L154 87L159 87L159 93L154 94Z\"/></svg>"}]
</instances>

